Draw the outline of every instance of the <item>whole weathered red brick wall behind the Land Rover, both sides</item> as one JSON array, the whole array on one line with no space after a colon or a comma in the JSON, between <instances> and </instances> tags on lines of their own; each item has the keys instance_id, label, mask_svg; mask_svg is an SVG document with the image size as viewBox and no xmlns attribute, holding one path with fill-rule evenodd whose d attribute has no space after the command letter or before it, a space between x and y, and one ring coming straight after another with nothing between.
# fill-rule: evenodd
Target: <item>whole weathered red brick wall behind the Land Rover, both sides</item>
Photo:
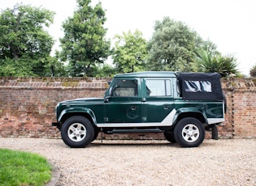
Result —
<instances>
[{"instance_id":1,"label":"whole weathered red brick wall behind the Land Rover, both sides","mask_svg":"<svg viewBox=\"0 0 256 186\"><path fill-rule=\"evenodd\" d=\"M51 127L60 101L102 97L111 78L0 78L0 137L60 137ZM254 79L223 80L226 120L219 137L256 137ZM163 139L163 134L116 134L104 138ZM210 137L207 133L206 137Z\"/></svg>"}]
</instances>

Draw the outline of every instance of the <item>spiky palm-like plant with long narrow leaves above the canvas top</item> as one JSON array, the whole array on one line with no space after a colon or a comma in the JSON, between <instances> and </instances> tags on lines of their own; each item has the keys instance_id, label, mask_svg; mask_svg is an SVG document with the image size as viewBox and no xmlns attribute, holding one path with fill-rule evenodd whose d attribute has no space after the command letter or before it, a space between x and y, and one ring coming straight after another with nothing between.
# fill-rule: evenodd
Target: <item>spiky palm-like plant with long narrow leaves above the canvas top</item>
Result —
<instances>
[{"instance_id":1,"label":"spiky palm-like plant with long narrow leaves above the canvas top","mask_svg":"<svg viewBox=\"0 0 256 186\"><path fill-rule=\"evenodd\" d=\"M231 74L239 75L236 58L233 56L222 56L220 53L212 54L209 51L197 50L197 70L202 72L217 72L222 77Z\"/></svg>"}]
</instances>

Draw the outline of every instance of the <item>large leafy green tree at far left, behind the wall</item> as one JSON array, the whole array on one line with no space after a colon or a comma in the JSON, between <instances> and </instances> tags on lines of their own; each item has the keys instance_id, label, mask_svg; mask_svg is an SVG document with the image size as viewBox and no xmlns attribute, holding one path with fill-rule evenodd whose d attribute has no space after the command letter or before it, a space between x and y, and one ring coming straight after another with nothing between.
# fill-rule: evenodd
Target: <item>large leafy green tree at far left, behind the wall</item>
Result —
<instances>
[{"instance_id":1,"label":"large leafy green tree at far left, behind the wall","mask_svg":"<svg viewBox=\"0 0 256 186\"><path fill-rule=\"evenodd\" d=\"M43 76L52 36L45 31L54 12L41 7L15 5L0 15L0 75Z\"/></svg>"}]
</instances>

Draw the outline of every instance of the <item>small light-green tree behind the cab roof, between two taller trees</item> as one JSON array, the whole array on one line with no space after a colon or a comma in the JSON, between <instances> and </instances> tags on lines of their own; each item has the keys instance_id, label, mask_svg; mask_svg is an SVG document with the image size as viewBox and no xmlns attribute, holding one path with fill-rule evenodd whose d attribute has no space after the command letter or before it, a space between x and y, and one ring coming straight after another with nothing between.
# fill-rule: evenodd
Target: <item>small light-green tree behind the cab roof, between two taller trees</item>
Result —
<instances>
[{"instance_id":1,"label":"small light-green tree behind the cab roof, between two taller trees","mask_svg":"<svg viewBox=\"0 0 256 186\"><path fill-rule=\"evenodd\" d=\"M113 49L113 61L118 73L145 70L147 57L146 40L142 32L123 32L123 36L115 36L115 48Z\"/></svg>"}]
</instances>

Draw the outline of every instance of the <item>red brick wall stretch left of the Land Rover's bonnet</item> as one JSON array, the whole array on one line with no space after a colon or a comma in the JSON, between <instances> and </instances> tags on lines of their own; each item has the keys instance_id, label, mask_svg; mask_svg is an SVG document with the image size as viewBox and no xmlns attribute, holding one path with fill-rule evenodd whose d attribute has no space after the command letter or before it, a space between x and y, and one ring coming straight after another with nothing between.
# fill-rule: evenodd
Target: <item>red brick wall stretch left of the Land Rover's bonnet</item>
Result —
<instances>
[{"instance_id":1,"label":"red brick wall stretch left of the Land Rover's bonnet","mask_svg":"<svg viewBox=\"0 0 256 186\"><path fill-rule=\"evenodd\" d=\"M0 136L59 137L56 104L100 97L106 86L106 78L0 78Z\"/></svg>"}]
</instances>

